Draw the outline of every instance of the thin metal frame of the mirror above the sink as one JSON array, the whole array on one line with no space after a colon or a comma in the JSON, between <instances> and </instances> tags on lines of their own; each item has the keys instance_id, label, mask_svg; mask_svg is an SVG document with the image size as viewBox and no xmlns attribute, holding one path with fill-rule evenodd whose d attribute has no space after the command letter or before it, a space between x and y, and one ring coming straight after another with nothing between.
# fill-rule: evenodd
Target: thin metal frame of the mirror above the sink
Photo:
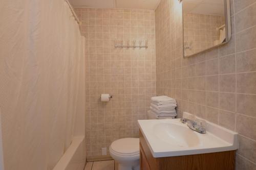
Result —
<instances>
[{"instance_id":1,"label":"thin metal frame of the mirror above the sink","mask_svg":"<svg viewBox=\"0 0 256 170\"><path fill-rule=\"evenodd\" d=\"M218 47L220 45L226 44L230 41L230 39L231 39L230 0L223 0L223 1L224 1L224 8L225 8L225 25L226 25L226 40L225 40L225 42L222 42L221 44L214 45L212 47L206 48L205 50L202 50L200 52L197 52L197 53L189 55L189 56L185 56L185 49L184 49L184 16L183 16L183 2L182 2L182 41L183 41L182 46L183 46L183 57L184 58L195 56L197 54L206 52L208 50L211 50L212 48L215 48L215 47Z\"/></svg>"}]
</instances>

